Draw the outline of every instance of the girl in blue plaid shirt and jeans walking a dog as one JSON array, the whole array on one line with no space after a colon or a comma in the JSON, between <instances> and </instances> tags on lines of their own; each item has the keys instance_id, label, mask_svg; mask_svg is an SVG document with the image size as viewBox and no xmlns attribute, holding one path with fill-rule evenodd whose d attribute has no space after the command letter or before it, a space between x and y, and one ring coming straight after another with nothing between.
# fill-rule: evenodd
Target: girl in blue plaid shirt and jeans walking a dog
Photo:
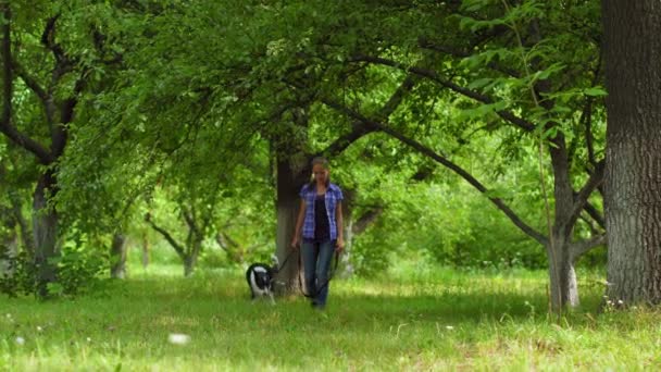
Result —
<instances>
[{"instance_id":1,"label":"girl in blue plaid shirt and jeans walking a dog","mask_svg":"<svg viewBox=\"0 0 661 372\"><path fill-rule=\"evenodd\" d=\"M302 227L302 256L305 288L312 307L323 309L328 297L328 273L333 252L345 247L342 232L342 191L330 183L328 161L312 160L312 182L301 188L301 206L291 240L298 247Z\"/></svg>"}]
</instances>

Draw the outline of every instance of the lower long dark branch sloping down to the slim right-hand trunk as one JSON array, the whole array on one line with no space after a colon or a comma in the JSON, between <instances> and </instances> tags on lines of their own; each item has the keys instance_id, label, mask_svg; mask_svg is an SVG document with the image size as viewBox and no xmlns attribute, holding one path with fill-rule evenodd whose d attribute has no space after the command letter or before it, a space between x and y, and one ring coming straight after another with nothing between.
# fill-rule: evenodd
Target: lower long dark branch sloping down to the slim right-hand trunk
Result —
<instances>
[{"instance_id":1,"label":"lower long dark branch sloping down to the slim right-hand trunk","mask_svg":"<svg viewBox=\"0 0 661 372\"><path fill-rule=\"evenodd\" d=\"M524 232L526 235L531 236L532 238L534 238L535 240L539 241L541 245L545 245L548 243L548 239L541 235L539 232L537 232L535 228L533 228L532 226L527 225L525 222L523 222L517 215L516 213L514 213L514 211L512 211L500 198L495 198L495 197L489 197L487 195L487 188L482 185L482 183L479 183L479 181L477 181L475 177L473 177L473 175L471 175L469 172L466 172L465 170L463 170L461 166L459 166L458 164L451 162L450 160L448 160L447 158L445 158L444 156L437 153L436 151L429 149L428 147L409 138L406 137L403 135L401 135L400 133L391 129L390 127L388 127L385 124L382 124L379 122L370 120L367 117L364 117L363 115L341 106L338 104L337 102L334 102L332 100L328 99L323 99L322 98L322 102L339 112L342 112L345 114L350 115L351 117L364 123L367 126L371 127L375 127L381 132L384 132L397 139L399 139L401 142L410 146L411 148L417 150L419 152L434 159L435 161L437 161L438 163L442 164L444 166L450 169L452 172L457 173L458 175L460 175L462 178L464 178L469 184L471 184L473 187L475 187L477 190L479 190L482 194L484 194L498 209L500 209L513 223L514 225L516 225L516 227L519 227L522 232Z\"/></svg>"}]
</instances>

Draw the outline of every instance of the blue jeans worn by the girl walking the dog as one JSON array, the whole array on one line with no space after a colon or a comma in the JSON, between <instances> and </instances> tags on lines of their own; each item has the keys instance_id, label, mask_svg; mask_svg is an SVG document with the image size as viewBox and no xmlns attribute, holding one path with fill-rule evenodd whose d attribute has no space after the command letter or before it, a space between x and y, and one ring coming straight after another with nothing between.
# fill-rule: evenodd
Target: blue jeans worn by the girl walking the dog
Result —
<instances>
[{"instance_id":1,"label":"blue jeans worn by the girl walking the dog","mask_svg":"<svg viewBox=\"0 0 661 372\"><path fill-rule=\"evenodd\" d=\"M307 294L312 298L312 302L323 307L328 298L328 276L335 252L335 240L323 243L303 240L301 248Z\"/></svg>"}]
</instances>

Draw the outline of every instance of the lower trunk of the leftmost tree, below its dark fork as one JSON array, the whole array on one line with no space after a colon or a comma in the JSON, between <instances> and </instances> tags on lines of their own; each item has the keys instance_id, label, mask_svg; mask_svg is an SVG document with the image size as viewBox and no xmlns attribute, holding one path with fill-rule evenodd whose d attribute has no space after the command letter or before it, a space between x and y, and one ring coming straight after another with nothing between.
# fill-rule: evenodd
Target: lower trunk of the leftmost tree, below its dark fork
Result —
<instances>
[{"instance_id":1,"label":"lower trunk of the leftmost tree, below its dark fork","mask_svg":"<svg viewBox=\"0 0 661 372\"><path fill-rule=\"evenodd\" d=\"M33 234L35 236L35 266L37 269L37 296L48 297L48 284L54 283L58 276L53 261L58 249L58 213L48 206L48 198L55 190L54 176L51 172L43 174L37 183L33 203Z\"/></svg>"}]
</instances>

